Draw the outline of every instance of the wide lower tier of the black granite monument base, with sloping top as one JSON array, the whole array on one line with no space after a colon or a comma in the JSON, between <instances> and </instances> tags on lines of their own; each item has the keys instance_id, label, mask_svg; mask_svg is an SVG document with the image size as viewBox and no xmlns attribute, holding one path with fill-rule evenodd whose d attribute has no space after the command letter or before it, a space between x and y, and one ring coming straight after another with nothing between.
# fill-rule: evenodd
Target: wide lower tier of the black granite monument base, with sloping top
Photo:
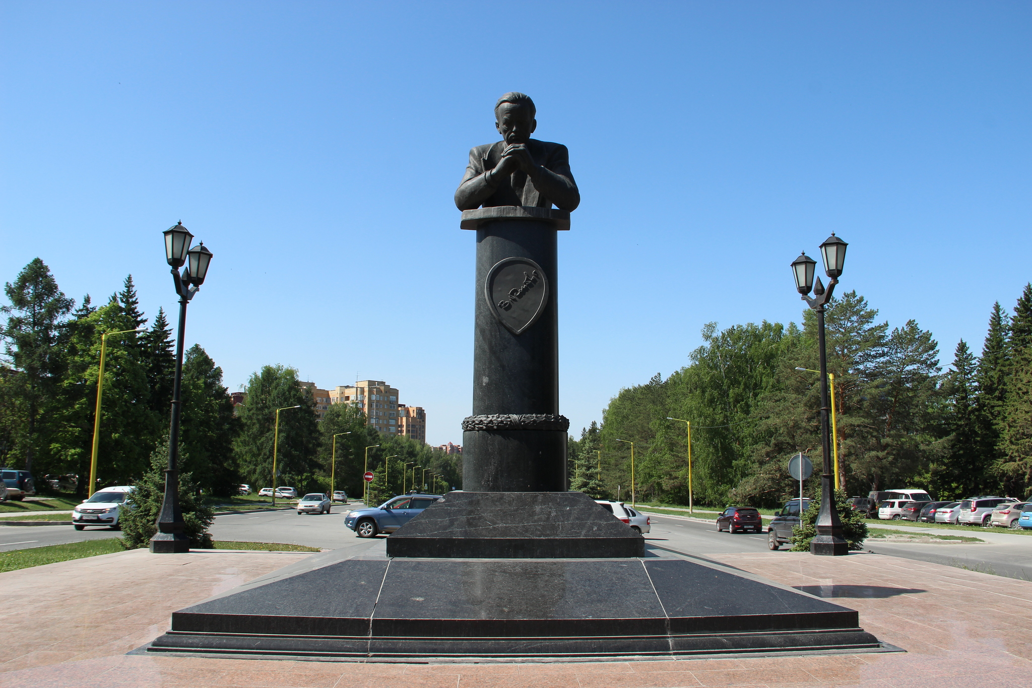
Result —
<instances>
[{"instance_id":1,"label":"wide lower tier of the black granite monument base, with sloping top","mask_svg":"<svg viewBox=\"0 0 1032 688\"><path fill-rule=\"evenodd\" d=\"M673 556L362 556L172 614L147 653L426 661L884 651L857 612Z\"/></svg>"}]
</instances>

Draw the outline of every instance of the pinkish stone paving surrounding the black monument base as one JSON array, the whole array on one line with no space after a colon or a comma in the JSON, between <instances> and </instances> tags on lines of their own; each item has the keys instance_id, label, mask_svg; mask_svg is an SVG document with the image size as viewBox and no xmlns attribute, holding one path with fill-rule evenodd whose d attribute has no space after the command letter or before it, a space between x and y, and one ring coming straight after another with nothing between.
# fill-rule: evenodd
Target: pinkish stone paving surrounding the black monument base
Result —
<instances>
[{"instance_id":1,"label":"pinkish stone paving surrounding the black monument base","mask_svg":"<svg viewBox=\"0 0 1032 688\"><path fill-rule=\"evenodd\" d=\"M860 612L906 653L674 661L392 664L126 655L172 611L304 554L121 552L0 574L4 688L973 688L1032 671L1032 583L877 554L716 555ZM347 594L347 582L330 594ZM729 590L729 594L734 591Z\"/></svg>"}]
</instances>

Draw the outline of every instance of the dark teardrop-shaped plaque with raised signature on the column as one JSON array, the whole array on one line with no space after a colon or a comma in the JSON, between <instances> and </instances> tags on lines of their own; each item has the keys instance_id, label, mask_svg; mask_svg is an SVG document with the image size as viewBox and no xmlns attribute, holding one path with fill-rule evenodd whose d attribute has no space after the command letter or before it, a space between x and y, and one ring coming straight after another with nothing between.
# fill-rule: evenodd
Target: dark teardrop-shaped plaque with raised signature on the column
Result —
<instances>
[{"instance_id":1,"label":"dark teardrop-shaped plaque with raised signature on the column","mask_svg":"<svg viewBox=\"0 0 1032 688\"><path fill-rule=\"evenodd\" d=\"M529 258L506 258L487 272L484 296L498 322L521 334L548 304L548 279Z\"/></svg>"}]
</instances>

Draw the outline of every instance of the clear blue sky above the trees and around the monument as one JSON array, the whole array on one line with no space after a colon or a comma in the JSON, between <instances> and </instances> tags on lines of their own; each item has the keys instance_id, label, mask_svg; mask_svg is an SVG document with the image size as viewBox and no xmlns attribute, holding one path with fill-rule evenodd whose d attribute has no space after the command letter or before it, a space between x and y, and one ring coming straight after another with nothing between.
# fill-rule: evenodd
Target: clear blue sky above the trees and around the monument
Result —
<instances>
[{"instance_id":1,"label":"clear blue sky above the trees and around the monument","mask_svg":"<svg viewBox=\"0 0 1032 688\"><path fill-rule=\"evenodd\" d=\"M385 380L461 441L474 236L452 194L506 91L570 149L561 411L688 362L710 321L797 321L788 263L953 359L1032 279L1028 2L42 2L0 6L0 282L38 256L190 306L238 389L266 363Z\"/></svg>"}]
</instances>

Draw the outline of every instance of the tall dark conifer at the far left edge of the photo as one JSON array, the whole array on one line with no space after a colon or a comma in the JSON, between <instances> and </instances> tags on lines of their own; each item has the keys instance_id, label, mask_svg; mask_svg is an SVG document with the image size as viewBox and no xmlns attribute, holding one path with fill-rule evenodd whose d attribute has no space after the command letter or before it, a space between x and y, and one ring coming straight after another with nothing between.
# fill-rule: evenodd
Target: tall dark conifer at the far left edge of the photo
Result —
<instances>
[{"instance_id":1,"label":"tall dark conifer at the far left edge of the photo","mask_svg":"<svg viewBox=\"0 0 1032 688\"><path fill-rule=\"evenodd\" d=\"M30 261L13 284L4 285L4 291L10 304L0 307L7 315L0 332L9 367L17 372L7 380L6 391L17 400L13 427L8 426L13 447L7 456L13 454L27 470L32 470L38 448L47 444L51 429L40 425L50 418L45 411L65 366L57 346L61 326L75 304L58 288L50 268L39 258Z\"/></svg>"}]
</instances>

